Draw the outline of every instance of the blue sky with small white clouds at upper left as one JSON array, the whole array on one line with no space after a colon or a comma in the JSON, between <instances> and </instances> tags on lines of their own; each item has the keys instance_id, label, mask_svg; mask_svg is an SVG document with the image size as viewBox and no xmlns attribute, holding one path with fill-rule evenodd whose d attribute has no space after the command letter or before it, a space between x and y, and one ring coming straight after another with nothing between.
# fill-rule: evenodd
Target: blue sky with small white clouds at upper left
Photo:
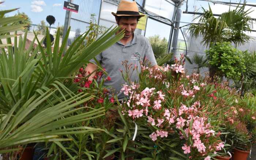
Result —
<instances>
[{"instance_id":1,"label":"blue sky with small white clouds at upper left","mask_svg":"<svg viewBox=\"0 0 256 160\"><path fill-rule=\"evenodd\" d=\"M5 1L0 5L2 9L19 8L19 12L25 12L33 24L39 24L46 16L53 15L56 19L53 27L64 25L66 10L63 9L64 0L0 0ZM18 11L11 12L8 16L15 15Z\"/></svg>"}]
</instances>

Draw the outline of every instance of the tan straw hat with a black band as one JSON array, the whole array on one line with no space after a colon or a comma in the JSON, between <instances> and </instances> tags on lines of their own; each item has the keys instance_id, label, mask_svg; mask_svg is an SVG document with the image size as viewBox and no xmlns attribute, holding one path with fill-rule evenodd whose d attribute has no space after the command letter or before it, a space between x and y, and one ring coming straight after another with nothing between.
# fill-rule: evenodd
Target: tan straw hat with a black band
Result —
<instances>
[{"instance_id":1,"label":"tan straw hat with a black band","mask_svg":"<svg viewBox=\"0 0 256 160\"><path fill-rule=\"evenodd\" d=\"M135 1L129 2L125 0L121 0L117 12L112 12L114 16L135 16L135 17L143 17L144 15L139 14L139 8Z\"/></svg>"}]
</instances>

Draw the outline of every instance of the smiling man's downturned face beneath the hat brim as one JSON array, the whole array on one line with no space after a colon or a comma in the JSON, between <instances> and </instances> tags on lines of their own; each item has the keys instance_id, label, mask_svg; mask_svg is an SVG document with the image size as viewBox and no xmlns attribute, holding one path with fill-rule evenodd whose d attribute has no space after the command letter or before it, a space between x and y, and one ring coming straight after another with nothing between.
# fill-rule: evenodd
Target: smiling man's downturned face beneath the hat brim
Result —
<instances>
[{"instance_id":1,"label":"smiling man's downturned face beneath the hat brim","mask_svg":"<svg viewBox=\"0 0 256 160\"><path fill-rule=\"evenodd\" d=\"M120 31L125 30L124 38L130 38L137 27L137 18L121 18L117 24L122 26Z\"/></svg>"}]
</instances>

